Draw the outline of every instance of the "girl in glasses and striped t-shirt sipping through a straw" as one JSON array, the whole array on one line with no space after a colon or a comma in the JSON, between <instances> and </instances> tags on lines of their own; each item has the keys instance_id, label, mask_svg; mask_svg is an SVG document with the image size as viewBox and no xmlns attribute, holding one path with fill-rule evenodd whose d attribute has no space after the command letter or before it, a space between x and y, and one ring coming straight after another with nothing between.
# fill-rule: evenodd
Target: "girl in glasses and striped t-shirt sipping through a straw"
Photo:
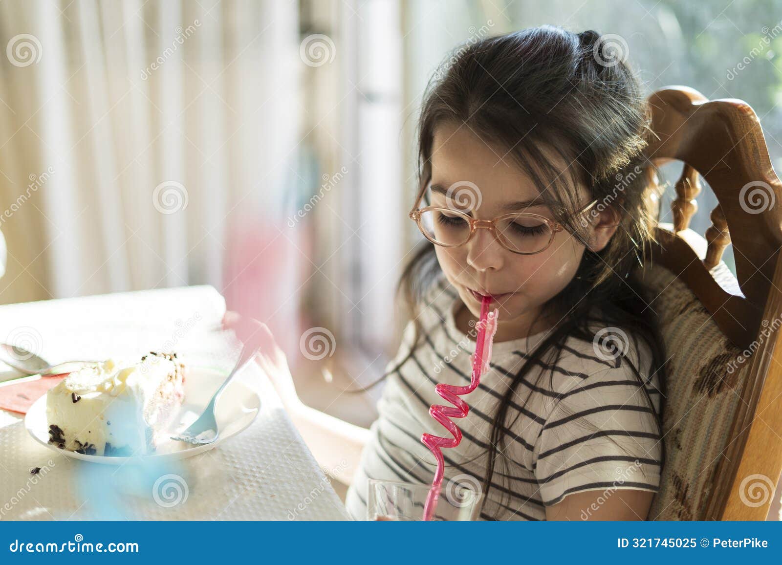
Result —
<instances>
[{"instance_id":1,"label":"girl in glasses and striped t-shirt sipping through a straw","mask_svg":"<svg viewBox=\"0 0 782 565\"><path fill-rule=\"evenodd\" d=\"M470 380L482 295L500 311L492 362L443 484L478 484L485 520L647 518L665 357L634 268L659 195L644 95L616 54L544 26L469 45L430 82L411 211L425 239L400 281L411 322L369 430L304 406L267 327L242 322L317 459L350 477L355 519L368 478L431 482L421 433L447 435L428 410L436 383Z\"/></svg>"}]
</instances>

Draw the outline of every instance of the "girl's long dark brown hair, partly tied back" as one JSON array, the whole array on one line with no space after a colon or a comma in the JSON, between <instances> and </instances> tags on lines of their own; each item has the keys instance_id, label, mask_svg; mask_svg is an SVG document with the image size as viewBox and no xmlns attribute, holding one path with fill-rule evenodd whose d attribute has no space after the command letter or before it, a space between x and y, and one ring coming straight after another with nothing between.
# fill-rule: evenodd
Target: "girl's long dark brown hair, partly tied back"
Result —
<instances>
[{"instance_id":1,"label":"girl's long dark brown hair, partly tied back","mask_svg":"<svg viewBox=\"0 0 782 565\"><path fill-rule=\"evenodd\" d=\"M554 365L569 337L594 342L596 334L590 326L596 325L632 329L650 347L652 374L658 372L660 387L664 387L662 339L634 273L647 257L656 221L655 203L661 196L658 185L649 182L656 168L643 154L651 134L651 113L637 77L622 60L623 40L612 43L613 38L617 36L601 37L596 31L575 34L552 26L483 38L458 49L447 69L429 81L424 95L418 128L419 190L431 182L436 126L465 123L486 143L508 149L508 155L536 185L548 187L541 196L556 221L583 243L589 234L587 223L577 221L569 212L579 207L572 188L576 183L586 185L592 199L598 200L598 209L612 211L619 225L603 250L584 251L572 281L543 307L541 317L564 317L529 353L500 400L488 448L483 484L486 495L497 461L508 463L502 452L514 424L506 420L516 390L536 364ZM553 149L565 163L572 164L569 179L562 178L565 175L541 147ZM398 287L414 320L414 342L407 357L388 374L407 362L421 342L419 302L440 272L434 245L424 240L404 269ZM654 412L644 379L638 368L630 365ZM657 418L662 437L662 401Z\"/></svg>"}]
</instances>

